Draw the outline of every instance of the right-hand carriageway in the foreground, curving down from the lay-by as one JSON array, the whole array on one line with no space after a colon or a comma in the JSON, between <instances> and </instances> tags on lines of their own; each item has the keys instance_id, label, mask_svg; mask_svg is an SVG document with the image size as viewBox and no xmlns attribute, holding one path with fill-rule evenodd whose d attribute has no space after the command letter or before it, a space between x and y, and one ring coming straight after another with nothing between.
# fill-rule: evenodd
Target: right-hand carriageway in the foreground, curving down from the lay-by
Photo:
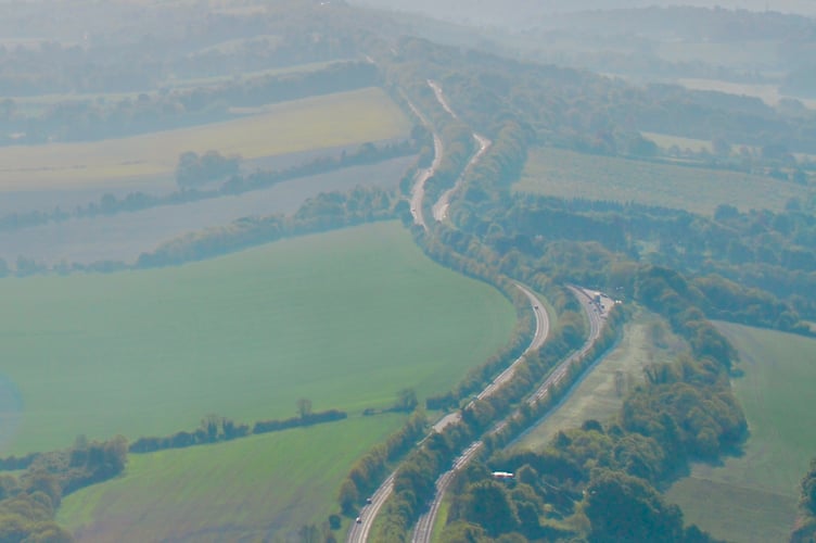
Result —
<instances>
[{"instance_id":1,"label":"right-hand carriageway in the foreground, curving down from the lay-by","mask_svg":"<svg viewBox=\"0 0 816 543\"><path fill-rule=\"evenodd\" d=\"M519 286L519 288L522 288L522 290L525 290L521 286ZM556 370L550 374L550 376L544 381L544 383L538 388L538 390L536 390L536 392L527 400L527 403L530 404L533 404L539 399L544 397L546 394L549 393L550 389L553 386L561 382L561 379L563 379L570 365L575 359L579 358L581 356L584 356L587 353L587 351L589 351L589 349L592 346L592 344L595 344L598 338L600 338L602 319L605 318L605 311L609 307L609 304L602 304L602 303L596 304L594 301L594 296L590 295L590 293L588 293L586 290L579 287L570 286L569 289L578 299L582 307L584 307L584 311L586 312L587 317L589 318L589 336L586 342L584 342L584 344L582 345L582 348L575 353L573 353L571 356L569 356L566 359L561 362L561 364L558 365ZM528 291L525 293L530 295ZM497 424L493 428L492 433L501 431L505 428L505 426L507 426L509 418L510 417ZM456 471L461 469L462 466L467 465L476 455L476 453L479 453L479 451L482 449L483 445L484 444L482 443L482 441L473 442L468 449L466 449L466 451L461 454L461 456L459 456L456 459L456 462L454 462L454 467L450 470L443 473L442 476L439 476L439 478L436 480L436 495L434 496L434 500L431 503L429 510L424 515L422 515L417 521L417 527L413 531L413 538L411 539L412 543L430 543L431 542L431 534L433 533L433 526L436 522L436 515L438 514L439 505L442 504L442 498L445 495L445 492L447 492L447 489L450 485L450 481L452 480L454 475L456 473Z\"/></svg>"}]
</instances>

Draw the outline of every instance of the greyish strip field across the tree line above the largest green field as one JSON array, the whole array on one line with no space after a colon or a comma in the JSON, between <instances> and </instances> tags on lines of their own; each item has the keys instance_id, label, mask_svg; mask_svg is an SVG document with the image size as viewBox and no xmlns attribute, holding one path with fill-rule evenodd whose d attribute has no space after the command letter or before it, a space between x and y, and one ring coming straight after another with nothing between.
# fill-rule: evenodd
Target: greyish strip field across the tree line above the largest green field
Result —
<instances>
[{"instance_id":1,"label":"greyish strip field across the tree line above the largest green field","mask_svg":"<svg viewBox=\"0 0 816 543\"><path fill-rule=\"evenodd\" d=\"M13 263L23 255L49 265L62 261L91 264L114 260L133 263L141 253L153 251L160 243L189 231L226 225L252 215L294 213L308 198L320 192L347 191L358 185L396 189L413 160L408 156L370 166L343 168L238 195L133 213L73 218L0 232L0 258Z\"/></svg>"}]
</instances>

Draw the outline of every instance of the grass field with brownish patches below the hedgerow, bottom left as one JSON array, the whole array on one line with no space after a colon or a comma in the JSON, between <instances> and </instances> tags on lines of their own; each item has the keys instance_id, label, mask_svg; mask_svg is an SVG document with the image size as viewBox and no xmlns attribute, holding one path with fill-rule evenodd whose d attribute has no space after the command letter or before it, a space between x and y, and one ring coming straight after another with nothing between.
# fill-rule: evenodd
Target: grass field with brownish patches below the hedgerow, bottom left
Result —
<instances>
[{"instance_id":1,"label":"grass field with brownish patches below the hedgerow, bottom left","mask_svg":"<svg viewBox=\"0 0 816 543\"><path fill-rule=\"evenodd\" d=\"M82 542L299 541L299 527L320 527L337 513L337 490L356 458L403 420L356 417L130 455L124 477L64 500L58 521Z\"/></svg>"}]
</instances>

